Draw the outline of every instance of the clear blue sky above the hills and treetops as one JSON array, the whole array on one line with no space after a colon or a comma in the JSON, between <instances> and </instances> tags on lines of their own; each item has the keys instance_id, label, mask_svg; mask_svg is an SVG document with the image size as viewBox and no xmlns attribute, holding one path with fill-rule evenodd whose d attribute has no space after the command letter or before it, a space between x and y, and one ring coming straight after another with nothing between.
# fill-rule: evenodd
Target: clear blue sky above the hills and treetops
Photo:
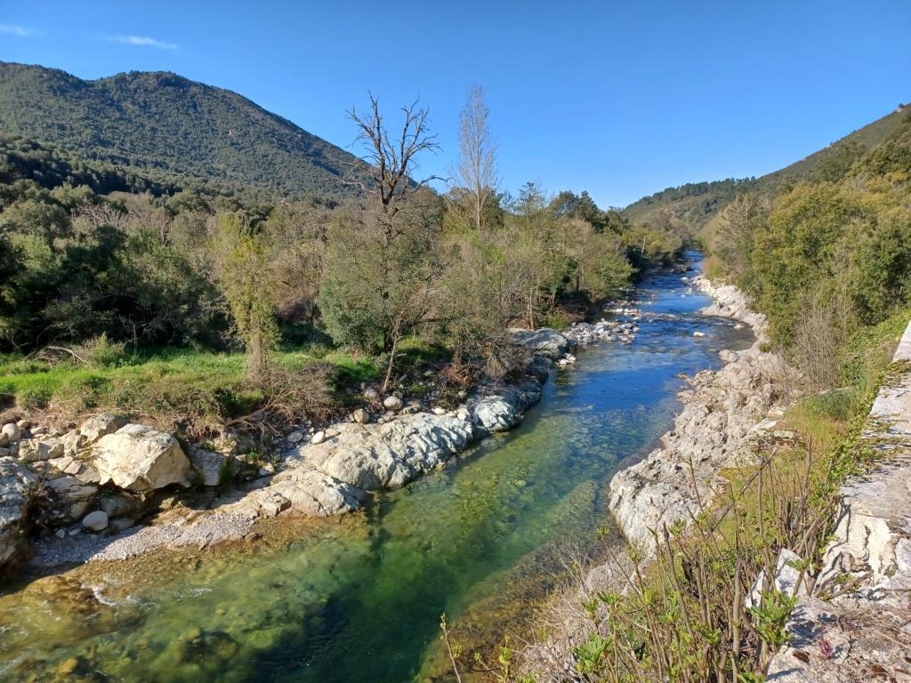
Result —
<instances>
[{"instance_id":1,"label":"clear blue sky above the hills and treetops","mask_svg":"<svg viewBox=\"0 0 911 683\"><path fill-rule=\"evenodd\" d=\"M417 96L445 175L484 87L504 189L623 206L762 175L911 101L911 0L0 2L0 59L83 78L169 70L342 147L371 89Z\"/></svg>"}]
</instances>

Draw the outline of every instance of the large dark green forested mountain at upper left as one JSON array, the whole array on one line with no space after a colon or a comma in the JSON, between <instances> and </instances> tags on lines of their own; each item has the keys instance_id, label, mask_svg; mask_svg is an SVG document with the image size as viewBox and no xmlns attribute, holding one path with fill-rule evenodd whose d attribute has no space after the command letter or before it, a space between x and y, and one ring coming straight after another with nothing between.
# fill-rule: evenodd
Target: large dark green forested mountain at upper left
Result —
<instances>
[{"instance_id":1,"label":"large dark green forested mountain at upper left","mask_svg":"<svg viewBox=\"0 0 911 683\"><path fill-rule=\"evenodd\" d=\"M86 81L0 62L0 130L154 180L338 198L363 162L246 97L166 72Z\"/></svg>"}]
</instances>

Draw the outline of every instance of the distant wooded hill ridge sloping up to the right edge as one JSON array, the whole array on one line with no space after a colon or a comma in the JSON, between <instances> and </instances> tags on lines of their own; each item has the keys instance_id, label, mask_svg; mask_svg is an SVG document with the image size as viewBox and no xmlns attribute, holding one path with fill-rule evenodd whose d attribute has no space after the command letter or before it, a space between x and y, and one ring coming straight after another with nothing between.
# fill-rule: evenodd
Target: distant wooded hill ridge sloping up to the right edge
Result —
<instances>
[{"instance_id":1,"label":"distant wooded hill ridge sloping up to the right edge","mask_svg":"<svg viewBox=\"0 0 911 683\"><path fill-rule=\"evenodd\" d=\"M659 225L670 223L695 235L738 192L774 194L783 184L799 180L841 178L865 150L875 148L896 135L909 111L909 107L899 105L891 114L762 178L728 178L663 189L630 204L623 209L623 213L635 222Z\"/></svg>"}]
</instances>

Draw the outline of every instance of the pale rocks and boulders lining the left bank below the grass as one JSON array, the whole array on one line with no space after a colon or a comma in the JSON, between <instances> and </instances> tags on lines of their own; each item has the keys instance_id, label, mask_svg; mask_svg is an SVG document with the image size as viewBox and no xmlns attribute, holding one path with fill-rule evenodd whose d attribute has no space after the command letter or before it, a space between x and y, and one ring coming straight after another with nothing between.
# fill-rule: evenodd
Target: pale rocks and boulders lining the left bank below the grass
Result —
<instances>
[{"instance_id":1,"label":"pale rocks and boulders lining the left bank below the grass","mask_svg":"<svg viewBox=\"0 0 911 683\"><path fill-rule=\"evenodd\" d=\"M182 444L110 414L63 433L6 425L0 566L14 563L32 526L44 531L33 564L51 567L236 540L280 515L351 512L369 492L444 467L470 443L521 421L569 342L548 329L516 331L514 342L531 356L525 377L482 384L450 411L374 396L347 421L290 433L277 463L262 468L245 464L230 444L224 452ZM371 412L374 404L380 413ZM251 481L228 484L241 467Z\"/></svg>"}]
</instances>

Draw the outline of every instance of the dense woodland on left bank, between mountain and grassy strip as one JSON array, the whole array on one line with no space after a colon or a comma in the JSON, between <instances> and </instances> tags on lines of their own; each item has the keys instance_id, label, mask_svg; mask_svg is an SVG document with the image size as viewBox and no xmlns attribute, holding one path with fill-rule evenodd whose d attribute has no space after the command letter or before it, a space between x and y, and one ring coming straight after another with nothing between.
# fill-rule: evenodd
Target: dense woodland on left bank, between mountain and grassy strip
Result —
<instances>
[{"instance_id":1,"label":"dense woodland on left bank, between mountain and grassy strip","mask_svg":"<svg viewBox=\"0 0 911 683\"><path fill-rule=\"evenodd\" d=\"M516 367L508 328L579 319L683 246L585 192L500 189L480 91L443 194L412 177L436 147L427 111L387 124L368 104L350 117L373 172L353 176L348 199L187 187L0 140L4 351L116 367L161 349L239 349L246 382L264 386L274 352L316 340L373 363L386 389L419 343L459 376L498 377Z\"/></svg>"}]
</instances>

